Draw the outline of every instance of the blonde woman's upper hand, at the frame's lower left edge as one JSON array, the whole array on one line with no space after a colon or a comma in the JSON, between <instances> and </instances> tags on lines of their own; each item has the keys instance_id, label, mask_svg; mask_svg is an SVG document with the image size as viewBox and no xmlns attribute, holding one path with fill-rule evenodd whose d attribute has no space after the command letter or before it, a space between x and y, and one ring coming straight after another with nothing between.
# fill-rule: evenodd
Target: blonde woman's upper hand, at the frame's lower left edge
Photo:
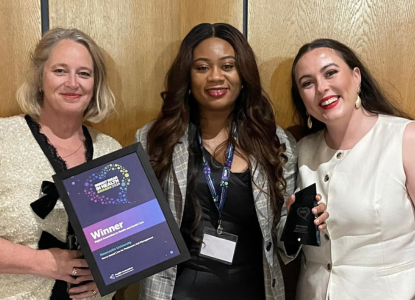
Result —
<instances>
[{"instance_id":1,"label":"blonde woman's upper hand, at the frame's lower left edge","mask_svg":"<svg viewBox=\"0 0 415 300\"><path fill-rule=\"evenodd\" d=\"M51 248L38 251L40 276L77 284L80 281L76 277L91 275L86 260L79 258L82 256L79 250Z\"/></svg>"}]
</instances>

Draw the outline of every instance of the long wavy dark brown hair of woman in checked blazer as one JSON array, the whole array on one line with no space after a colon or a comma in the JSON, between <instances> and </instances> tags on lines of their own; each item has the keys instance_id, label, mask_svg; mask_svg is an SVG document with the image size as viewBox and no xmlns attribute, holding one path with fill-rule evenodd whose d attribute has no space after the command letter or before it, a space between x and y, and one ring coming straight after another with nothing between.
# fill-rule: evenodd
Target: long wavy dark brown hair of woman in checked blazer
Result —
<instances>
[{"instance_id":1,"label":"long wavy dark brown hair of woman in checked blazer","mask_svg":"<svg viewBox=\"0 0 415 300\"><path fill-rule=\"evenodd\" d=\"M280 219L286 188L283 178L283 165L287 161L285 145L280 143L276 135L273 108L261 88L255 55L246 38L229 24L199 24L182 41L179 53L166 75L166 90L161 93L161 113L148 133L147 150L151 164L159 181L163 182L172 168L174 146L185 134L189 122L196 125L199 122L199 105L188 92L191 86L193 51L203 40L213 37L227 41L235 51L235 66L243 89L229 119L235 121L239 129L237 143L244 156L253 157L256 161L256 165L252 166L247 159L251 174L260 165L266 175L276 224ZM189 134L191 132L189 129ZM235 143L231 135L227 142ZM189 167L197 165L191 161L197 157L197 151L197 147L192 147L190 143ZM187 191L188 195L190 191L196 210L194 228L201 217L200 204L192 192L198 170L188 179Z\"/></svg>"}]
</instances>

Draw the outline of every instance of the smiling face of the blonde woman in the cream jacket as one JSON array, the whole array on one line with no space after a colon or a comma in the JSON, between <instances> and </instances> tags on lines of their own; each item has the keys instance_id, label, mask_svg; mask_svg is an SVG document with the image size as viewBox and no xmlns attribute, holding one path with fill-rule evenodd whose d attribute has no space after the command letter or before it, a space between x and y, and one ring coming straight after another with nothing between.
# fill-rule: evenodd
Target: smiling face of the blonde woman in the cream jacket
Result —
<instances>
[{"instance_id":1,"label":"smiling face of the blonde woman in the cream jacket","mask_svg":"<svg viewBox=\"0 0 415 300\"><path fill-rule=\"evenodd\" d=\"M44 66L42 111L82 117L94 92L93 70L85 46L68 39L60 41Z\"/></svg>"}]
</instances>

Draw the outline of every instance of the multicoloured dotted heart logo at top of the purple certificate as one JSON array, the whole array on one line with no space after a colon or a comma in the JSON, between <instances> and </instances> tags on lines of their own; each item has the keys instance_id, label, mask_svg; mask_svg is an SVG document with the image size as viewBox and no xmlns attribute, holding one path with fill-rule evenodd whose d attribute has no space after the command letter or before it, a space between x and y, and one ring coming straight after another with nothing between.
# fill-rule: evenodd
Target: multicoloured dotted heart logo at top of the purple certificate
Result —
<instances>
[{"instance_id":1,"label":"multicoloured dotted heart logo at top of the purple certificate","mask_svg":"<svg viewBox=\"0 0 415 300\"><path fill-rule=\"evenodd\" d=\"M131 179L120 164L108 164L99 173L92 173L84 184L84 193L95 203L125 204Z\"/></svg>"}]
</instances>

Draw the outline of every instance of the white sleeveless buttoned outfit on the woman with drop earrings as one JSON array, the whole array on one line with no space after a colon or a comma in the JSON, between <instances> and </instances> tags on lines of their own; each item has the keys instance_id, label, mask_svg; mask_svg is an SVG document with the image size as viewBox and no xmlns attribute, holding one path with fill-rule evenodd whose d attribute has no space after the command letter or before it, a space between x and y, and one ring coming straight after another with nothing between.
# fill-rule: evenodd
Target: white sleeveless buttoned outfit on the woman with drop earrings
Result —
<instances>
[{"instance_id":1,"label":"white sleeveless buttoned outfit on the woman with drop earrings","mask_svg":"<svg viewBox=\"0 0 415 300\"><path fill-rule=\"evenodd\" d=\"M298 188L316 183L330 216L321 247L303 247L297 299L415 299L415 214L402 162L410 122L379 115L350 150L329 148L324 131L298 144Z\"/></svg>"}]
</instances>

